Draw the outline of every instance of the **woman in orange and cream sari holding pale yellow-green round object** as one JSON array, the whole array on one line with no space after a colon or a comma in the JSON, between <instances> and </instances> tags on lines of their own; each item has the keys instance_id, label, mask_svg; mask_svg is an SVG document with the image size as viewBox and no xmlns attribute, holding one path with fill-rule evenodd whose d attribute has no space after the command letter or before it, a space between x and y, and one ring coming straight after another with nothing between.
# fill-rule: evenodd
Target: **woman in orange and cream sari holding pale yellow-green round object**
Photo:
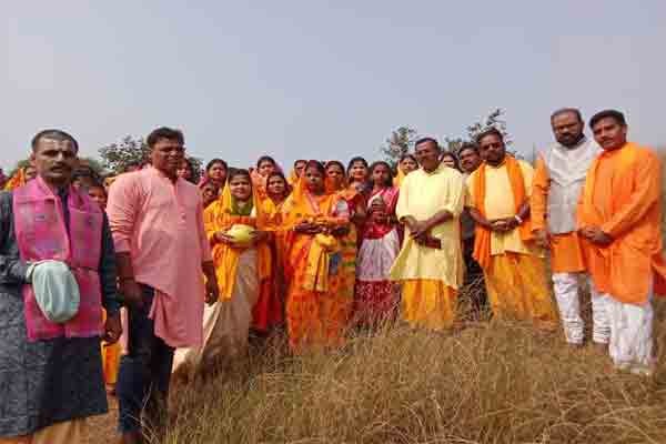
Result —
<instances>
[{"instance_id":1,"label":"woman in orange and cream sari holding pale yellow-green round object","mask_svg":"<svg viewBox=\"0 0 666 444\"><path fill-rule=\"evenodd\" d=\"M262 283L271 276L271 251L264 216L252 192L250 172L232 170L222 195L204 212L204 225L212 246L220 300L204 310L203 344L179 351L174 370L183 361L190 376L215 369L248 352L253 316ZM238 229L251 231L241 239ZM236 233L236 234L234 234Z\"/></svg>"}]
</instances>

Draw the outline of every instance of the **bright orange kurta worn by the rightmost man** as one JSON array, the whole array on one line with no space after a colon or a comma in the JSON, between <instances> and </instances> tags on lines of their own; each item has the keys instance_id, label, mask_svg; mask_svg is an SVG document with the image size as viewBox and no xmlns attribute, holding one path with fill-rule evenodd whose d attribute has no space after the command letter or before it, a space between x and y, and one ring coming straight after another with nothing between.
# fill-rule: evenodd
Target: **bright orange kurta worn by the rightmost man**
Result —
<instances>
[{"instance_id":1,"label":"bright orange kurta worn by the rightmost man","mask_svg":"<svg viewBox=\"0 0 666 444\"><path fill-rule=\"evenodd\" d=\"M664 293L660 167L652 150L626 143L595 160L581 194L578 225L613 238L603 248L582 241L587 270L601 292L623 303L645 303L653 275Z\"/></svg>"}]
</instances>

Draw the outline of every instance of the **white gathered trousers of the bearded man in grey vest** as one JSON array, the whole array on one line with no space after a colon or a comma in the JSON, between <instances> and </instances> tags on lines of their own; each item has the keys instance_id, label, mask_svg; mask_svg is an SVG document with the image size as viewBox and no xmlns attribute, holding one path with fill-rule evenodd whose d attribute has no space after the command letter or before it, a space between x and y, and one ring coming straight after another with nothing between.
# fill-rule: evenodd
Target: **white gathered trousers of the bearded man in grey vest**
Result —
<instances>
[{"instance_id":1,"label":"white gathered trousers of the bearded man in grey vest","mask_svg":"<svg viewBox=\"0 0 666 444\"><path fill-rule=\"evenodd\" d=\"M582 273L554 273L553 290L566 342L582 344L585 340L585 324L581 316ZM597 344L607 344L610 340L610 322L608 319L608 295L599 294L592 279L586 279L592 300L592 340Z\"/></svg>"}]
</instances>

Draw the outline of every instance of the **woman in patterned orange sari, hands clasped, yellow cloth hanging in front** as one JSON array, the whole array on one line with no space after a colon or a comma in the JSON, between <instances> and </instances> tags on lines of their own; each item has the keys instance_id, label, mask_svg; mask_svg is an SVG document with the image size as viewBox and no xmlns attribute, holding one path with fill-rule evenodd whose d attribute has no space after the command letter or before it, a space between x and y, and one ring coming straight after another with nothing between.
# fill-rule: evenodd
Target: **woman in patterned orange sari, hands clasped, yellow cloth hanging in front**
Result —
<instances>
[{"instance_id":1,"label":"woman in patterned orange sari, hands clasped, yellow cloth hanging in front","mask_svg":"<svg viewBox=\"0 0 666 444\"><path fill-rule=\"evenodd\" d=\"M282 206L289 279L286 327L292 350L340 346L349 321L349 295L340 292L340 239L349 232L349 208L326 192L326 171L310 161Z\"/></svg>"}]
</instances>

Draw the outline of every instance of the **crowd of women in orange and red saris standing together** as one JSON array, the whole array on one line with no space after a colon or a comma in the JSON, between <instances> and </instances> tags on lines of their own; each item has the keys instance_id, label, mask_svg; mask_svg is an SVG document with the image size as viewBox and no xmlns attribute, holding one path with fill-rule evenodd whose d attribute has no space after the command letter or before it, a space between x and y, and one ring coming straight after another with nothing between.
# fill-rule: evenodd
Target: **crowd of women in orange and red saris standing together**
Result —
<instances>
[{"instance_id":1,"label":"crowd of women in orange and red saris standing together","mask_svg":"<svg viewBox=\"0 0 666 444\"><path fill-rule=\"evenodd\" d=\"M203 347L181 351L175 366L242 354L250 332L284 326L299 351L339 346L352 327L393 321L400 287L389 271L402 236L395 205L401 179L416 168L410 154L395 178L387 162L363 158L346 165L297 160L289 175L268 155L251 169L209 162L199 185L225 303L206 307ZM191 165L179 173L191 178ZM232 235L234 226L250 226L251 235Z\"/></svg>"}]
</instances>

